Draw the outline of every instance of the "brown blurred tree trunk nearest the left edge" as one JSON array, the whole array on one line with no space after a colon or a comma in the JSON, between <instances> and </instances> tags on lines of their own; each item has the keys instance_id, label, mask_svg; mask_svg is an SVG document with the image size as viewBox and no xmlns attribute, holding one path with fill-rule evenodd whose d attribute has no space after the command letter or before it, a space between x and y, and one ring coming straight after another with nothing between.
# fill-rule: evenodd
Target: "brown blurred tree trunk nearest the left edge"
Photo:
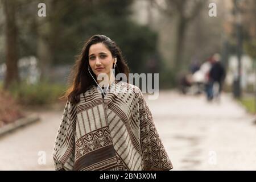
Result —
<instances>
[{"instance_id":1,"label":"brown blurred tree trunk nearest the left edge","mask_svg":"<svg viewBox=\"0 0 256 182\"><path fill-rule=\"evenodd\" d=\"M3 1L5 13L5 39L6 39L6 75L3 89L7 90L14 82L19 82L18 72L18 28L15 20L15 1Z\"/></svg>"}]
</instances>

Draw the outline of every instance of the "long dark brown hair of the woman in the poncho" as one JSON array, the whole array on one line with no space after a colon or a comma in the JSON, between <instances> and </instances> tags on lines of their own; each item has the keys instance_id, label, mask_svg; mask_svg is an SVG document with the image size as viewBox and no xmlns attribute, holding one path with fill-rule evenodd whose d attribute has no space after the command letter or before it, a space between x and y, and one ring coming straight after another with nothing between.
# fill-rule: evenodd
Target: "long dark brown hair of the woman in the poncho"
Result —
<instances>
[{"instance_id":1,"label":"long dark brown hair of the woman in the poncho","mask_svg":"<svg viewBox=\"0 0 256 182\"><path fill-rule=\"evenodd\" d=\"M65 99L72 104L77 104L80 101L80 94L86 92L92 85L96 85L92 76L88 71L89 66L89 48L93 44L103 43L109 49L113 57L117 58L117 67L115 67L115 76L118 73L124 73L128 82L129 68L126 61L123 59L121 49L117 44L105 35L93 35L89 38L79 56L77 56L76 63L73 65L71 73L68 77L68 89L64 96L60 99ZM96 75L91 72L94 79Z\"/></svg>"}]
</instances>

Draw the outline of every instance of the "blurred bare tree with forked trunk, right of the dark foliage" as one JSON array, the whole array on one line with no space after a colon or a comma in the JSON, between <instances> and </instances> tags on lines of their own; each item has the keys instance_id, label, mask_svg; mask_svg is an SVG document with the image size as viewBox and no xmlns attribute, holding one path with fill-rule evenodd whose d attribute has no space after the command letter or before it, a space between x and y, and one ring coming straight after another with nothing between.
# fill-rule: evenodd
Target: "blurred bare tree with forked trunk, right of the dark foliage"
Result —
<instances>
[{"instance_id":1,"label":"blurred bare tree with forked trunk, right of the dark foliage","mask_svg":"<svg viewBox=\"0 0 256 182\"><path fill-rule=\"evenodd\" d=\"M188 25L200 13L205 0L151 0L153 4L165 15L176 18L176 40L174 51L174 71L179 72L183 65L183 48L185 42L185 32Z\"/></svg>"}]
</instances>

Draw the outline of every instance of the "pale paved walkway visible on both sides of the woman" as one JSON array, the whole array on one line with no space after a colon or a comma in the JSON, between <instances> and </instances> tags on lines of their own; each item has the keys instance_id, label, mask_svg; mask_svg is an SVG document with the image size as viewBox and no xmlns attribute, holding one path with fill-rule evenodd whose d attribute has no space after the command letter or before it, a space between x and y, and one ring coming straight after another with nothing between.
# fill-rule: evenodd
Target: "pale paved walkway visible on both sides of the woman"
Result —
<instances>
[{"instance_id":1,"label":"pale paved walkway visible on both sides of the woman","mask_svg":"<svg viewBox=\"0 0 256 182\"><path fill-rule=\"evenodd\" d=\"M254 117L230 96L208 103L203 96L164 91L147 103L174 170L256 170ZM0 170L54 169L52 149L62 113L40 111L42 121L1 137ZM44 154L46 164L39 164Z\"/></svg>"}]
</instances>

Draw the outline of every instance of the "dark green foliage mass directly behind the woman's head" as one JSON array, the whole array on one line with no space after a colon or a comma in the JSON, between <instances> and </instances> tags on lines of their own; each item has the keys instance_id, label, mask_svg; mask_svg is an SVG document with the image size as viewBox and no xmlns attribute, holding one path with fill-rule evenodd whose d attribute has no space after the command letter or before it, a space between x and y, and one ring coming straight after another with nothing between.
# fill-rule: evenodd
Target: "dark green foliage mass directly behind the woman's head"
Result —
<instances>
[{"instance_id":1,"label":"dark green foliage mass directly behind the woman's head","mask_svg":"<svg viewBox=\"0 0 256 182\"><path fill-rule=\"evenodd\" d=\"M86 39L102 34L123 51L131 72L145 72L147 59L156 52L156 33L131 22L133 1L57 1L49 20L53 34L54 64L73 63ZM139 63L139 64L138 64Z\"/></svg>"}]
</instances>

